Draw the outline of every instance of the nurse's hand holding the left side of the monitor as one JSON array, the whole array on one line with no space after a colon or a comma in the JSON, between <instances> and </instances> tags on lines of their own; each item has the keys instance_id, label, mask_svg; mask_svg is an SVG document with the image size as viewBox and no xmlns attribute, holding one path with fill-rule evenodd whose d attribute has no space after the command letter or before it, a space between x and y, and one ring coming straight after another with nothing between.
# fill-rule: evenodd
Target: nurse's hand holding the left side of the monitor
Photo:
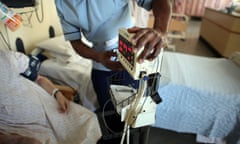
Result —
<instances>
[{"instance_id":1,"label":"nurse's hand holding the left side of the monitor","mask_svg":"<svg viewBox=\"0 0 240 144\"><path fill-rule=\"evenodd\" d=\"M111 70L124 70L122 64L119 61L115 61L117 53L113 51L99 52L97 62L102 63L105 67Z\"/></svg>"}]
</instances>

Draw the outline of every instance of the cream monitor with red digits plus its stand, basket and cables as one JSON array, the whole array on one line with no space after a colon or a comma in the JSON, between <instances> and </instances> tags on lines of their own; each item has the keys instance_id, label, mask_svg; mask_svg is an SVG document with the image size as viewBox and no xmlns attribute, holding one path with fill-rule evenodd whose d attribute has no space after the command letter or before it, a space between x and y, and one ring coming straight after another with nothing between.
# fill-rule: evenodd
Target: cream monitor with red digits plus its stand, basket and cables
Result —
<instances>
[{"instance_id":1,"label":"cream monitor with red digits plus its stand, basket and cables","mask_svg":"<svg viewBox=\"0 0 240 144\"><path fill-rule=\"evenodd\" d=\"M110 85L112 101L121 115L121 120L125 121L121 144L126 134L129 143L130 127L139 128L154 124L156 105L161 102L157 89L161 76L159 65L163 48L155 60L139 64L137 58L144 47L134 53L134 44L131 42L133 36L126 29L119 30L118 59L133 79L139 80L139 88L136 90L129 86Z\"/></svg>"}]
</instances>

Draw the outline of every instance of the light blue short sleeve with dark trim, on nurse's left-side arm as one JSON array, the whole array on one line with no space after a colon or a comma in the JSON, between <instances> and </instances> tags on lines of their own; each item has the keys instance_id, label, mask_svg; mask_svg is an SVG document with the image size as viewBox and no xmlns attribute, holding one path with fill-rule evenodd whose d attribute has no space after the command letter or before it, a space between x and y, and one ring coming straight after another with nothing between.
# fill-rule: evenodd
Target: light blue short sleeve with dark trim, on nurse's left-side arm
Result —
<instances>
[{"instance_id":1,"label":"light blue short sleeve with dark trim, on nurse's left-side arm","mask_svg":"<svg viewBox=\"0 0 240 144\"><path fill-rule=\"evenodd\" d=\"M72 23L66 21L64 18L64 15L62 13L67 11L64 11L62 8L62 3L60 1L56 1L56 6L57 6L57 13L61 22L62 30L64 33L64 37L66 40L77 40L81 39L81 30L79 27L74 26Z\"/></svg>"}]
</instances>

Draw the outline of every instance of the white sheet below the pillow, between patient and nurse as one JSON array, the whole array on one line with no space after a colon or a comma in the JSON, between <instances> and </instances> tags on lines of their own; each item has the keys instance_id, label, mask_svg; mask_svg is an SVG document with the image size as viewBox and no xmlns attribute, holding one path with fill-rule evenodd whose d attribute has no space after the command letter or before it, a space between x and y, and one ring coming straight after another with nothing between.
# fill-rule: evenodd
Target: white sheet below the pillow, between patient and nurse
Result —
<instances>
[{"instance_id":1,"label":"white sheet below the pillow, between patient and nurse","mask_svg":"<svg viewBox=\"0 0 240 144\"><path fill-rule=\"evenodd\" d=\"M78 61L62 63L56 59L43 61L40 74L77 90L81 104L91 111L98 107L96 93L91 82L92 62L79 57Z\"/></svg>"}]
</instances>

